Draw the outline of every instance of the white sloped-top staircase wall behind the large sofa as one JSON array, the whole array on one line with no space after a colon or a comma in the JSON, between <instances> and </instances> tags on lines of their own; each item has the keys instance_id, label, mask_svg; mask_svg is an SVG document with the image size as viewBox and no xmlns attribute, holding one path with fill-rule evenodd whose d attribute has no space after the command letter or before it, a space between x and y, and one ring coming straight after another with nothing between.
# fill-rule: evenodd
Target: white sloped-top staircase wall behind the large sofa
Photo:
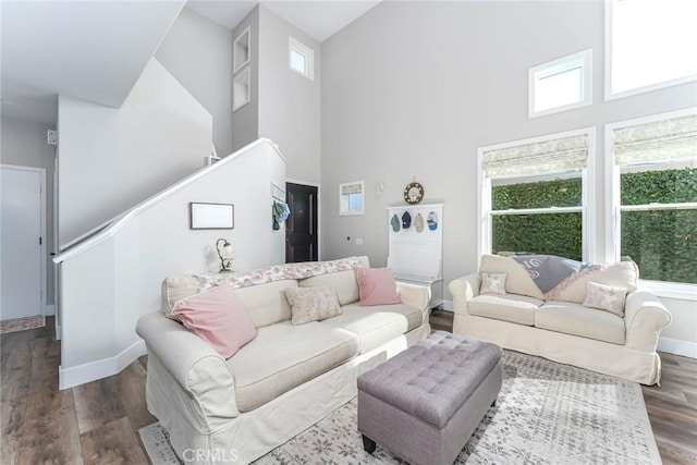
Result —
<instances>
[{"instance_id":1,"label":"white sloped-top staircase wall behind the large sofa","mask_svg":"<svg viewBox=\"0 0 697 465\"><path fill-rule=\"evenodd\" d=\"M59 257L61 389L113 375L145 353L135 325L160 308L162 279L217 271L219 237L234 246L237 271L283 262L284 231L271 228L272 182L285 182L285 160L259 140L137 208L113 236ZM191 230L189 201L233 204L234 229Z\"/></svg>"}]
</instances>

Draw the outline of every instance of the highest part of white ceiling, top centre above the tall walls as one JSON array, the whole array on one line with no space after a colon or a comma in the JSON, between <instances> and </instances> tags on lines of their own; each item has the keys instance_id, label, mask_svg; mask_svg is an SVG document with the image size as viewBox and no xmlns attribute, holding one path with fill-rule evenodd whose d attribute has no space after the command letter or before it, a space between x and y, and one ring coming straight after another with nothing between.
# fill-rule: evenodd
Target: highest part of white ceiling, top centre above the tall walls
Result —
<instances>
[{"instance_id":1,"label":"highest part of white ceiling, top centre above the tall walls","mask_svg":"<svg viewBox=\"0 0 697 465\"><path fill-rule=\"evenodd\" d=\"M381 0L314 0L314 1L210 1L188 0L186 7L204 16L234 28L261 3L295 27L318 41L325 41L358 16L380 3Z\"/></svg>"}]
</instances>

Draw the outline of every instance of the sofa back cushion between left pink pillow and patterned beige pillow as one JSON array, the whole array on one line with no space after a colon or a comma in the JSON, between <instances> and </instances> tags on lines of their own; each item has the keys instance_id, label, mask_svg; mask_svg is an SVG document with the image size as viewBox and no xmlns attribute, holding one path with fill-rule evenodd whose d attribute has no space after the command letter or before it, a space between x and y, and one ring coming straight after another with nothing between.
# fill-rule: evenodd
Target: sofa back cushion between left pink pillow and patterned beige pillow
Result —
<instances>
[{"instance_id":1,"label":"sofa back cushion between left pink pillow and patterned beige pillow","mask_svg":"<svg viewBox=\"0 0 697 465\"><path fill-rule=\"evenodd\" d=\"M257 328L291 319L291 306L283 295L286 287L297 287L296 280L267 282L235 289Z\"/></svg>"}]
</instances>

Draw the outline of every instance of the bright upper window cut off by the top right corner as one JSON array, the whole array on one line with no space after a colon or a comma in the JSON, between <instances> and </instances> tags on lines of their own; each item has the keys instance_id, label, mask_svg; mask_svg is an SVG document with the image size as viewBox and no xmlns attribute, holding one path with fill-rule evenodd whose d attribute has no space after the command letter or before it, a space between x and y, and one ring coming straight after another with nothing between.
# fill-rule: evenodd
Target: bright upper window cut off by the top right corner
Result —
<instances>
[{"instance_id":1,"label":"bright upper window cut off by the top right corner","mask_svg":"<svg viewBox=\"0 0 697 465\"><path fill-rule=\"evenodd\" d=\"M606 0L606 100L697 78L695 0Z\"/></svg>"}]
</instances>

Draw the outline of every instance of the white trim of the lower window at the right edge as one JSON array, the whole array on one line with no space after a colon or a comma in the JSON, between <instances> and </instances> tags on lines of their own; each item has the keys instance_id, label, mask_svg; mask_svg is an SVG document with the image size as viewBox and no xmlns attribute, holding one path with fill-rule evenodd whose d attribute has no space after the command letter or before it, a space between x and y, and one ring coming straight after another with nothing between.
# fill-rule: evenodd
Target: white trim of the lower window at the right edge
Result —
<instances>
[{"instance_id":1,"label":"white trim of the lower window at the right edge","mask_svg":"<svg viewBox=\"0 0 697 465\"><path fill-rule=\"evenodd\" d=\"M620 260L621 240L621 221L620 221L620 172L619 166L614 164L614 131L621 127L634 126L639 124L652 123L656 121L667 120L671 118L687 117L697 114L697 108L686 110L671 111L668 113L653 114L650 117L636 118L633 120L617 121L606 124L604 133L604 157L606 157L606 186L609 186L610 193L606 195L606 256L604 261ZM672 204L672 205L692 205L692 204ZM662 207L663 205L655 205L649 207ZM678 208L678 207L674 207ZM693 207L690 207L693 208ZM625 206L623 210L640 210L644 206ZM649 208L652 209L652 208ZM680 298L684 301L697 302L697 284L678 283L670 281L649 281L639 280L641 287L646 286L656 292L659 297Z\"/></svg>"}]
</instances>

